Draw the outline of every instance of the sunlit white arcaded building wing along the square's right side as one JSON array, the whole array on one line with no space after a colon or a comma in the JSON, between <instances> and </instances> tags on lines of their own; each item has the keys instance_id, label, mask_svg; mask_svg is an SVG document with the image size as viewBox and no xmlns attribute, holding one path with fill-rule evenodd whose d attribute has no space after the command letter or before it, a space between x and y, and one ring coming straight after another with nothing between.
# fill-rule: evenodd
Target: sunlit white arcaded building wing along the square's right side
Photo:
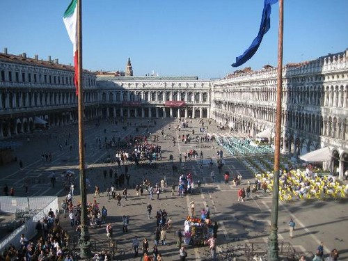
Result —
<instances>
[{"instance_id":1,"label":"sunlit white arcaded building wing along the square's right side","mask_svg":"<svg viewBox=\"0 0 348 261\"><path fill-rule=\"evenodd\" d=\"M212 118L255 137L276 125L277 69L212 82ZM333 171L348 168L348 51L283 68L281 151L291 157L328 146ZM271 135L269 137L271 139Z\"/></svg>"}]
</instances>

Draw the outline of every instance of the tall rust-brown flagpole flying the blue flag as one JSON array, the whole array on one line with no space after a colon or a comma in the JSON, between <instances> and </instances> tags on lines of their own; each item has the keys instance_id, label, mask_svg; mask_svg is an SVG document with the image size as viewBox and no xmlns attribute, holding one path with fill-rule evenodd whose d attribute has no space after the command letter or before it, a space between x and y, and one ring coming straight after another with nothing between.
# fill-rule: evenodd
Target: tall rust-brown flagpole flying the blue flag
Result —
<instances>
[{"instance_id":1,"label":"tall rust-brown flagpole flying the blue flag","mask_svg":"<svg viewBox=\"0 0 348 261\"><path fill-rule=\"evenodd\" d=\"M276 104L276 136L274 140L274 184L271 212L271 229L268 238L268 259L279 259L278 252L278 200L279 200L279 162L280 162L280 131L282 116L282 81L283 81L283 0L279 0L279 28L278 28L278 77Z\"/></svg>"}]
</instances>

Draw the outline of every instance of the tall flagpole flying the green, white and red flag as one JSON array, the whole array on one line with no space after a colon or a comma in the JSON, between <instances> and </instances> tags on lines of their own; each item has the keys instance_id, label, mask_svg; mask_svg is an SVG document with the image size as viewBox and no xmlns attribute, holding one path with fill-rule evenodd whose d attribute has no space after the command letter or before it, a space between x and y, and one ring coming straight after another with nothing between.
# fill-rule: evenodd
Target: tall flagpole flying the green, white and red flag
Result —
<instances>
[{"instance_id":1,"label":"tall flagpole flying the green, white and red flag","mask_svg":"<svg viewBox=\"0 0 348 261\"><path fill-rule=\"evenodd\" d=\"M77 0L77 59L78 59L78 93L77 100L79 112L79 173L80 173L80 195L81 195L81 237L79 239L80 258L90 258L90 241L87 219L87 197L86 197L86 169L84 148L84 90L82 69L82 0Z\"/></svg>"}]
</instances>

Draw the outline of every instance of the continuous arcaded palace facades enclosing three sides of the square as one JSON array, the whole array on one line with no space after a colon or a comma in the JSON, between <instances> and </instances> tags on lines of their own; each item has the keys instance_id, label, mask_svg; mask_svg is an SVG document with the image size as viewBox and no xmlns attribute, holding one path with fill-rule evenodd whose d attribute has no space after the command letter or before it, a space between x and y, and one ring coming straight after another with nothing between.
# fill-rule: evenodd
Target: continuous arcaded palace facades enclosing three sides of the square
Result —
<instances>
[{"instance_id":1,"label":"continuous arcaded palace facades enclosing three sides of the square","mask_svg":"<svg viewBox=\"0 0 348 261\"><path fill-rule=\"evenodd\" d=\"M272 138L276 68L250 68L221 80L125 76L84 70L85 118L212 118L237 132ZM74 70L46 61L0 54L0 139L35 127L77 121ZM348 52L283 68L282 151L292 157L329 146L340 175L348 167ZM45 123L46 122L46 123Z\"/></svg>"}]
</instances>

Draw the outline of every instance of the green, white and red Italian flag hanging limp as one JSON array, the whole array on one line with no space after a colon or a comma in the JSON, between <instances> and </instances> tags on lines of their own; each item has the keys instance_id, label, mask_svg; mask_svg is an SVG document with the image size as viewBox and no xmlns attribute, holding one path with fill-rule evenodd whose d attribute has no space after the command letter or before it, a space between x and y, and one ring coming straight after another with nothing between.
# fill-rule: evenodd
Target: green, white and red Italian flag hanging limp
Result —
<instances>
[{"instance_id":1,"label":"green, white and red Italian flag hanging limp","mask_svg":"<svg viewBox=\"0 0 348 261\"><path fill-rule=\"evenodd\" d=\"M67 10L65 10L63 21L65 27L68 31L69 38L72 42L72 46L74 48L74 84L76 87L76 95L79 95L78 89L78 60L77 60L77 0L72 0Z\"/></svg>"}]
</instances>

